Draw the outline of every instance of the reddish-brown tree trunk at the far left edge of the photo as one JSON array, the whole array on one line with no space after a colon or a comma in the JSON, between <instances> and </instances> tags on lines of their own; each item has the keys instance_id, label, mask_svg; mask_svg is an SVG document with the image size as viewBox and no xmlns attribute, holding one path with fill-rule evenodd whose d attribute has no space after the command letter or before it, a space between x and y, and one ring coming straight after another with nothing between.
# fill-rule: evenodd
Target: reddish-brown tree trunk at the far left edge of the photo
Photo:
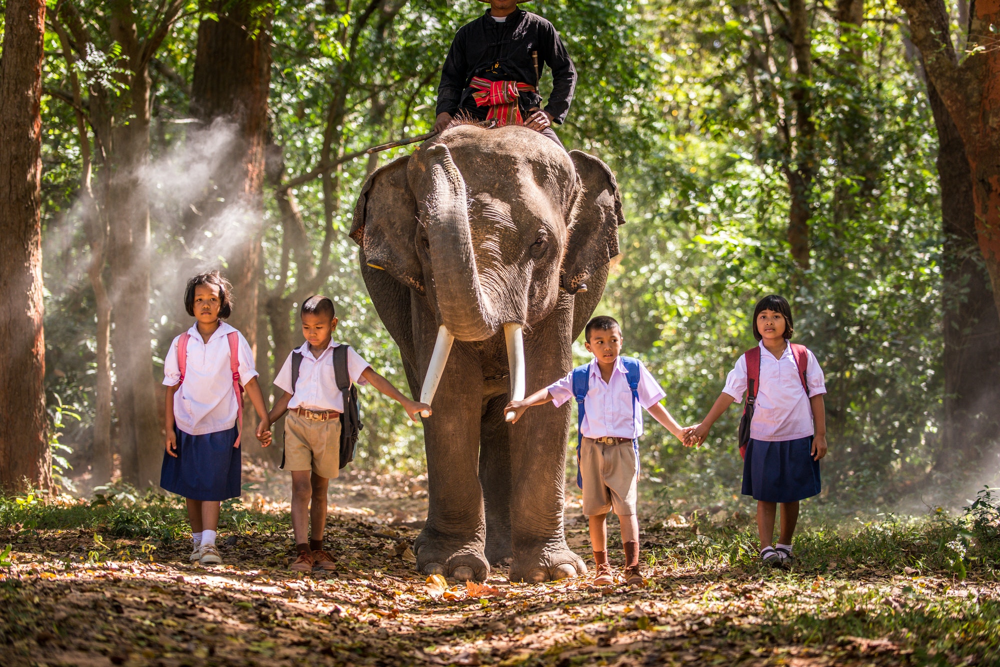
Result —
<instances>
[{"instance_id":1,"label":"reddish-brown tree trunk at the far left edge of the photo","mask_svg":"<svg viewBox=\"0 0 1000 667\"><path fill-rule=\"evenodd\" d=\"M42 332L44 0L7 0L0 60L0 492L49 488Z\"/></svg>"}]
</instances>

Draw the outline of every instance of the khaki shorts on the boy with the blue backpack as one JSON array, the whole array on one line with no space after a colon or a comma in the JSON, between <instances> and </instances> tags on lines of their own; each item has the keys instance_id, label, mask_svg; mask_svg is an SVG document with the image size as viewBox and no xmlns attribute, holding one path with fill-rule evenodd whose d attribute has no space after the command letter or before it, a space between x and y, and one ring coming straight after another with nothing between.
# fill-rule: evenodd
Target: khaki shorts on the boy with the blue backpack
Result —
<instances>
[{"instance_id":1,"label":"khaki shorts on the boy with the blue backpack","mask_svg":"<svg viewBox=\"0 0 1000 667\"><path fill-rule=\"evenodd\" d=\"M631 441L602 444L585 437L580 445L580 477L583 480L583 513L619 516L635 514L635 449Z\"/></svg>"}]
</instances>

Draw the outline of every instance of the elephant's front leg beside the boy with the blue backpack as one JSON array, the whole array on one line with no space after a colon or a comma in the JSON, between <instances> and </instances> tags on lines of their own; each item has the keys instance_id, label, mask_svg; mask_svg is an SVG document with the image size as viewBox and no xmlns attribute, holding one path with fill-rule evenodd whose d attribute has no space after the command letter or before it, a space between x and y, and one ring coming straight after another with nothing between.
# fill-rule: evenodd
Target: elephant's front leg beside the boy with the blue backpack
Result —
<instances>
[{"instance_id":1,"label":"elephant's front leg beside the boy with the blue backpack","mask_svg":"<svg viewBox=\"0 0 1000 667\"><path fill-rule=\"evenodd\" d=\"M560 296L556 310L525 340L527 392L570 370L572 297ZM569 403L532 407L510 426L511 581L546 581L582 574L583 560L566 545L563 493Z\"/></svg>"}]
</instances>

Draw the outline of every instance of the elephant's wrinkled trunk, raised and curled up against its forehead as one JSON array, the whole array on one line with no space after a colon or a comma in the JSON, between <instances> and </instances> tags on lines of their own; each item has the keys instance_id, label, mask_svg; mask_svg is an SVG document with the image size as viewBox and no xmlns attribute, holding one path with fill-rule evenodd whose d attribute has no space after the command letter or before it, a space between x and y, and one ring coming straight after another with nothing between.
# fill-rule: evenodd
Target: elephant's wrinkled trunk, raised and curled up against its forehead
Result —
<instances>
[{"instance_id":1,"label":"elephant's wrinkled trunk, raised and curled up against its forehead","mask_svg":"<svg viewBox=\"0 0 1000 667\"><path fill-rule=\"evenodd\" d=\"M502 323L491 313L476 269L465 181L448 147L427 150L432 190L424 224L441 324L459 340L485 340Z\"/></svg>"}]
</instances>

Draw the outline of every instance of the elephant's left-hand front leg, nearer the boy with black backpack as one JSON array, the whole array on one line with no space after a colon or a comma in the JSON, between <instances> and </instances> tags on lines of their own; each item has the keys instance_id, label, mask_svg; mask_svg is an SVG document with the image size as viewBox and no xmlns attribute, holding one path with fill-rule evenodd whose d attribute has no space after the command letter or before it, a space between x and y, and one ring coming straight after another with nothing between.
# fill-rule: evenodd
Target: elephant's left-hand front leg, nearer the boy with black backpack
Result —
<instances>
[{"instance_id":1,"label":"elephant's left-hand front leg, nearer the boy with black backpack","mask_svg":"<svg viewBox=\"0 0 1000 667\"><path fill-rule=\"evenodd\" d=\"M421 355L425 372L430 350ZM478 357L456 342L434 396L434 413L423 420L429 507L414 550L424 574L482 581L490 571L478 475L482 381Z\"/></svg>"}]
</instances>

